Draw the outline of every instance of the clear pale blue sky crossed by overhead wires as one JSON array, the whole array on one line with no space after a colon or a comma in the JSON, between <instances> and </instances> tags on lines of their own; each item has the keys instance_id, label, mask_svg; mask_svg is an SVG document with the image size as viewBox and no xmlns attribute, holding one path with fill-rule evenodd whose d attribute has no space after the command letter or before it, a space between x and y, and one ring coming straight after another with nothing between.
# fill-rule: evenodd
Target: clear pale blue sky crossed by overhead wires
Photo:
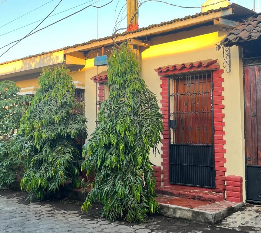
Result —
<instances>
[{"instance_id":1,"label":"clear pale blue sky crossed by overhead wires","mask_svg":"<svg viewBox=\"0 0 261 233\"><path fill-rule=\"evenodd\" d=\"M22 29L18 29L24 25L30 24L37 20L45 18L51 10L58 4L60 0L0 0L0 47L14 41L21 39L34 29L39 22L26 26ZM83 4L90 0L63 0L61 4L51 14L54 15L68 8ZM182 6L200 6L204 1L199 0L166 0L167 2L182 5ZM15 20L8 25L1 27L2 25L18 18L21 15L49 2L43 7L31 12L18 20ZM98 6L104 5L110 2L110 0L99 0ZM115 25L114 12L118 0L113 2L104 8L98 9L98 38L102 38L108 35L112 35ZM252 8L252 0L231 0L231 3L236 2L246 8ZM40 26L44 27L52 22L55 22L73 12L84 8L90 4L96 5L96 0L92 0L89 3L73 8L66 12L54 15L45 20ZM126 0L119 0L116 16L126 3ZM257 0L256 0L257 4ZM181 18L187 15L193 15L200 12L200 8L178 8L159 2L146 2L139 9L139 27L146 27L147 25L169 21L175 18ZM31 35L30 37L22 40L12 49L10 49L5 55L0 57L0 62L5 62L21 57L37 54L53 49L59 49L64 46L71 46L77 43L87 42L91 39L97 38L97 12L96 8L87 8L84 11L69 17L55 25L48 27L40 32ZM125 12L124 12L125 14ZM123 14L123 15L124 15ZM126 15L126 14L125 14ZM124 15L124 16L125 16ZM122 21L120 27L126 27L126 20ZM15 30L18 29L18 30ZM15 30L14 32L10 32ZM10 33L7 33L10 32ZM7 34L5 34L7 33ZM5 35L2 35L5 34ZM0 55L6 51L8 47L0 49Z\"/></svg>"}]
</instances>

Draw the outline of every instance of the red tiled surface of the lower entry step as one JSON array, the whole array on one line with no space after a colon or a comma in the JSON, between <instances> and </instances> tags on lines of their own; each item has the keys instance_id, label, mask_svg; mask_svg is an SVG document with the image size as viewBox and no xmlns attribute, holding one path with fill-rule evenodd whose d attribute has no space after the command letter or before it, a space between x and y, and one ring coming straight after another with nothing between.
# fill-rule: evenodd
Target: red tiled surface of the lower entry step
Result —
<instances>
[{"instance_id":1,"label":"red tiled surface of the lower entry step","mask_svg":"<svg viewBox=\"0 0 261 233\"><path fill-rule=\"evenodd\" d=\"M229 201L220 201L220 202L211 203L208 201L193 200L189 198L179 198L179 197L173 197L164 194L157 194L157 195L158 196L155 199L159 204L176 205L176 206L182 206L182 207L198 209L198 210L203 210L208 212L220 211L222 209L226 209L230 206L237 204Z\"/></svg>"}]
</instances>

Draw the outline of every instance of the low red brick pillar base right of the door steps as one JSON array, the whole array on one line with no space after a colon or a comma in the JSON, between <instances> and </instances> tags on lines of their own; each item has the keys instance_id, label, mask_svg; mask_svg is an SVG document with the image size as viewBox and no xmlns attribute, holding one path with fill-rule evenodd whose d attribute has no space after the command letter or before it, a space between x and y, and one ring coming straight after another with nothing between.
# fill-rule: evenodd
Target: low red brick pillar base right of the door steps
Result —
<instances>
[{"instance_id":1,"label":"low red brick pillar base right of the door steps","mask_svg":"<svg viewBox=\"0 0 261 233\"><path fill-rule=\"evenodd\" d=\"M243 202L243 178L241 176L226 177L226 200Z\"/></svg>"}]
</instances>

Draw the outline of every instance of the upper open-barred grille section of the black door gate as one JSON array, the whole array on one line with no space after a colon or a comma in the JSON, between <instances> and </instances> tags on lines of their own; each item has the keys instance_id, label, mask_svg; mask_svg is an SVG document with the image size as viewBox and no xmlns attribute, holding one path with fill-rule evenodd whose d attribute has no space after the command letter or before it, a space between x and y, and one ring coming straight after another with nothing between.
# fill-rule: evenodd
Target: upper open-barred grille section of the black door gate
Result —
<instances>
[{"instance_id":1,"label":"upper open-barred grille section of the black door gate","mask_svg":"<svg viewBox=\"0 0 261 233\"><path fill-rule=\"evenodd\" d=\"M170 143L213 144L212 74L170 78Z\"/></svg>"}]
</instances>

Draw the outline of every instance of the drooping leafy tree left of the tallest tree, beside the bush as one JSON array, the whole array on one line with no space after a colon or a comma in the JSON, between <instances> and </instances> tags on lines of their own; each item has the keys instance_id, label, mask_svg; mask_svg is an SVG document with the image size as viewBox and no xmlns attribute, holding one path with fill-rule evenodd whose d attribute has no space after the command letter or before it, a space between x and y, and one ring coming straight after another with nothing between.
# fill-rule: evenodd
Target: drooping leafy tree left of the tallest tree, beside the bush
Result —
<instances>
[{"instance_id":1,"label":"drooping leafy tree left of the tallest tree, beside the bush","mask_svg":"<svg viewBox=\"0 0 261 233\"><path fill-rule=\"evenodd\" d=\"M14 150L25 158L21 189L42 199L65 184L79 187L76 138L87 136L87 119L76 111L75 86L65 66L44 67L31 106L21 119Z\"/></svg>"}]
</instances>

